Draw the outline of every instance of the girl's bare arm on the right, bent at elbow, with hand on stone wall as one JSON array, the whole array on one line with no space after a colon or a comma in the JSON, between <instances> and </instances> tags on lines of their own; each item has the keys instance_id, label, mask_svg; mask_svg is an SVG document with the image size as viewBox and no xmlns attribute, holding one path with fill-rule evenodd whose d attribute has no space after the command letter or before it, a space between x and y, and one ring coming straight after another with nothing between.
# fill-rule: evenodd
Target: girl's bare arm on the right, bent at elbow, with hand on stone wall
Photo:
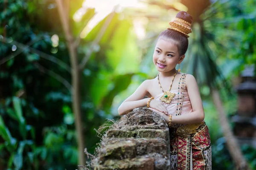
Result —
<instances>
[{"instance_id":1,"label":"girl's bare arm on the right, bent at elbow, with hand on stone wall","mask_svg":"<svg viewBox=\"0 0 256 170\"><path fill-rule=\"evenodd\" d=\"M172 124L193 124L204 121L204 108L198 85L194 76L190 74L186 76L186 87L193 112L179 116L172 116ZM169 123L169 116L166 116L165 114L156 111L155 109L152 110L160 114L160 116L162 116L166 122Z\"/></svg>"}]
</instances>

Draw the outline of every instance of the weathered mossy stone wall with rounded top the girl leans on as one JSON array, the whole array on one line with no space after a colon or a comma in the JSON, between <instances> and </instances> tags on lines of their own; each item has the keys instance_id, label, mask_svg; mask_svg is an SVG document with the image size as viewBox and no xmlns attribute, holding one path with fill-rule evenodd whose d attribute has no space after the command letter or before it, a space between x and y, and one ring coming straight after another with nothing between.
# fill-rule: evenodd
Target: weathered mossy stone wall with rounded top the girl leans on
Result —
<instances>
[{"instance_id":1,"label":"weathered mossy stone wall with rounded top the girl leans on","mask_svg":"<svg viewBox=\"0 0 256 170\"><path fill-rule=\"evenodd\" d=\"M137 108L122 116L103 136L94 169L169 170L166 121L147 108Z\"/></svg>"}]
</instances>

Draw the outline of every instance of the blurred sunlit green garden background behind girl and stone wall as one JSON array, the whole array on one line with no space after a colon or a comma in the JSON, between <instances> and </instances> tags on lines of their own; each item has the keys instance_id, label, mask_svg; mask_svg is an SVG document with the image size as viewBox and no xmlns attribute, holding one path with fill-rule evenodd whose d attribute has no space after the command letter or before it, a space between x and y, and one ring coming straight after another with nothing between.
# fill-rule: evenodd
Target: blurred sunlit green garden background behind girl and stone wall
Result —
<instances>
[{"instance_id":1,"label":"blurred sunlit green garden background behind girl and stone wall","mask_svg":"<svg viewBox=\"0 0 256 170\"><path fill-rule=\"evenodd\" d=\"M0 0L0 170L90 161L96 129L157 75L155 40L178 11L193 16L181 71L200 88L212 169L256 169L255 0Z\"/></svg>"}]
</instances>

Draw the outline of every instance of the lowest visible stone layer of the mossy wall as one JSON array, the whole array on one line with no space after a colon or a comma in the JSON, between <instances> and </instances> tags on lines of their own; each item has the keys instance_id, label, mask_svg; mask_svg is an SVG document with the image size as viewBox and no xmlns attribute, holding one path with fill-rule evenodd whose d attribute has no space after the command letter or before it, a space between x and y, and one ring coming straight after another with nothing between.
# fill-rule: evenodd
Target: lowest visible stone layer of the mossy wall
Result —
<instances>
[{"instance_id":1,"label":"lowest visible stone layer of the mossy wall","mask_svg":"<svg viewBox=\"0 0 256 170\"><path fill-rule=\"evenodd\" d=\"M133 158L133 159L110 159L103 165L96 165L94 170L154 170L154 159Z\"/></svg>"}]
</instances>

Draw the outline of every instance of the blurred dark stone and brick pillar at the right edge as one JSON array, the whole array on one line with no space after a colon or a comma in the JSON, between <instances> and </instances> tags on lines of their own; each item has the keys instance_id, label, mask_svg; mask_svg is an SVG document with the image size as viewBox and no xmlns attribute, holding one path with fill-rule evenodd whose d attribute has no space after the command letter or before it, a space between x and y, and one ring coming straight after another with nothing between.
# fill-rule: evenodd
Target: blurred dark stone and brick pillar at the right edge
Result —
<instances>
[{"instance_id":1,"label":"blurred dark stone and brick pillar at the right edge","mask_svg":"<svg viewBox=\"0 0 256 170\"><path fill-rule=\"evenodd\" d=\"M238 111L232 117L234 133L240 144L256 148L256 77L254 68L247 67L241 74L242 82L237 88Z\"/></svg>"}]
</instances>

